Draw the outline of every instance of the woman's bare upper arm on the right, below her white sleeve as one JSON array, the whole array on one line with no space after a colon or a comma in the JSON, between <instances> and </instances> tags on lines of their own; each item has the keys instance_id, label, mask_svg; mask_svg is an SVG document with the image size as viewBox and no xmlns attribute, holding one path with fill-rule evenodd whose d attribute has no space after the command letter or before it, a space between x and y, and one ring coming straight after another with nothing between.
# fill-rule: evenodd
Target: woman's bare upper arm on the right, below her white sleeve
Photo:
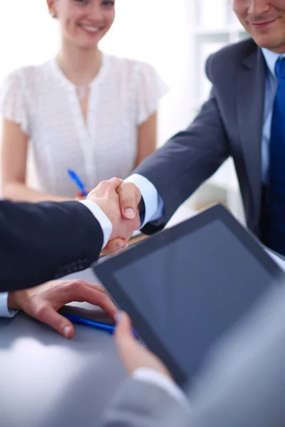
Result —
<instances>
[{"instance_id":1,"label":"woman's bare upper arm on the right, below her white sleeve","mask_svg":"<svg viewBox=\"0 0 285 427\"><path fill-rule=\"evenodd\" d=\"M138 127L138 155L135 167L155 151L157 142L157 112Z\"/></svg>"}]
</instances>

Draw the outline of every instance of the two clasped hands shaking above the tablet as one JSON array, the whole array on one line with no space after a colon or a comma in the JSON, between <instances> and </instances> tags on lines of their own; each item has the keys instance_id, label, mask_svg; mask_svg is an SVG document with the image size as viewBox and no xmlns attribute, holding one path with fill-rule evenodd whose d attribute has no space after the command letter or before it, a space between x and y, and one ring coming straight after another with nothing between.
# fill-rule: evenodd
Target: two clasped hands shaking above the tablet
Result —
<instances>
[{"instance_id":1,"label":"two clasped hands shaking above the tablet","mask_svg":"<svg viewBox=\"0 0 285 427\"><path fill-rule=\"evenodd\" d=\"M140 228L138 204L141 194L135 184L112 178L90 191L87 200L95 202L113 225L104 255L114 255L128 247L133 232Z\"/></svg>"}]
</instances>

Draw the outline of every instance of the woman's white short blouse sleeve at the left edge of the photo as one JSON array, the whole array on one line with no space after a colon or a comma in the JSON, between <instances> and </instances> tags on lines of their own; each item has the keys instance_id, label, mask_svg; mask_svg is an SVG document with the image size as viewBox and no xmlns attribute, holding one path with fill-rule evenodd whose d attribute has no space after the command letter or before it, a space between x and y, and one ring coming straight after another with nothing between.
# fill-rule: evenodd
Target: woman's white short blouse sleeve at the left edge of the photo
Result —
<instances>
[{"instance_id":1,"label":"woman's white short blouse sleeve at the left edge of the photo","mask_svg":"<svg viewBox=\"0 0 285 427\"><path fill-rule=\"evenodd\" d=\"M21 130L29 135L28 105L20 70L15 70L4 80L0 90L0 113L5 119L20 125Z\"/></svg>"}]
</instances>

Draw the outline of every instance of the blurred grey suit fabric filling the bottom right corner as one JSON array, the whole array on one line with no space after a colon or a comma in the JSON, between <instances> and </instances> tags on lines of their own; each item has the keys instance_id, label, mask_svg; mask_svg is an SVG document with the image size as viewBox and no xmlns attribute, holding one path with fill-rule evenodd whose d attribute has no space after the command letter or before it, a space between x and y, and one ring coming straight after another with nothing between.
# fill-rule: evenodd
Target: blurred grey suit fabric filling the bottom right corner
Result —
<instances>
[{"instance_id":1,"label":"blurred grey suit fabric filling the bottom right corner","mask_svg":"<svg viewBox=\"0 0 285 427\"><path fill-rule=\"evenodd\" d=\"M192 384L190 426L285 426L284 284L217 344Z\"/></svg>"}]
</instances>

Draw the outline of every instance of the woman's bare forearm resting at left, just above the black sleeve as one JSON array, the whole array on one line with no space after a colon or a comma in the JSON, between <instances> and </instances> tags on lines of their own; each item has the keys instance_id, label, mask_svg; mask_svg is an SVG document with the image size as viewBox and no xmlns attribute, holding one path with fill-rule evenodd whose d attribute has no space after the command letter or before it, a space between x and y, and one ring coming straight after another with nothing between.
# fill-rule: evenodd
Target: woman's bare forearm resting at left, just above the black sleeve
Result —
<instances>
[{"instance_id":1,"label":"woman's bare forearm resting at left, just above the black sleeve","mask_svg":"<svg viewBox=\"0 0 285 427\"><path fill-rule=\"evenodd\" d=\"M54 196L38 190L31 189L21 182L11 182L4 184L2 188L4 199L11 201L28 201L36 203L38 201L71 201L71 198L63 196Z\"/></svg>"}]
</instances>

